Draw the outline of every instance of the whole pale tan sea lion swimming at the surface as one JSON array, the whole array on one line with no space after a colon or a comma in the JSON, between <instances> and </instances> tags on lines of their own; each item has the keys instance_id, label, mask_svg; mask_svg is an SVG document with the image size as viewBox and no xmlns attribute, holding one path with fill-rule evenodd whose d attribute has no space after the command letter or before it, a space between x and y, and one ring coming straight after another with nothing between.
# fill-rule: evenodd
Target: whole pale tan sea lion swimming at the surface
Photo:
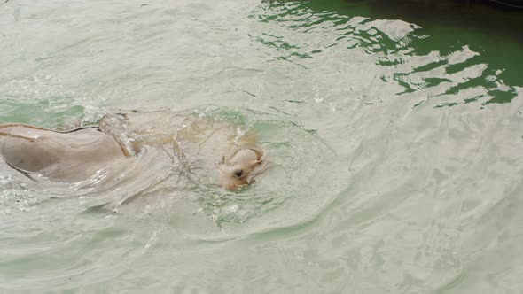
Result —
<instances>
[{"instance_id":1,"label":"whole pale tan sea lion swimming at the surface","mask_svg":"<svg viewBox=\"0 0 523 294\"><path fill-rule=\"evenodd\" d=\"M226 189L254 182L266 165L252 132L238 134L230 123L174 112L107 115L97 127L60 132L24 124L0 126L0 155L12 168L54 182L79 182L145 147L166 149L191 171L219 175ZM144 166L146 168L146 166Z\"/></svg>"}]
</instances>

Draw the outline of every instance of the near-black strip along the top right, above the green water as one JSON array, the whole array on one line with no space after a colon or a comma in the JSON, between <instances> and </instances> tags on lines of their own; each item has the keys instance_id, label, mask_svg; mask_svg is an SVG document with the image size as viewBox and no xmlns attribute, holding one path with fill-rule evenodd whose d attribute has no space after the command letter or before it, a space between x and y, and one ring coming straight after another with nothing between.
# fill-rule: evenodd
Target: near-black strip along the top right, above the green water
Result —
<instances>
[{"instance_id":1,"label":"near-black strip along the top right, above the green water","mask_svg":"<svg viewBox=\"0 0 523 294\"><path fill-rule=\"evenodd\" d=\"M470 28L523 43L523 0L311 0L307 5L371 19L402 19L427 28Z\"/></svg>"}]
</instances>

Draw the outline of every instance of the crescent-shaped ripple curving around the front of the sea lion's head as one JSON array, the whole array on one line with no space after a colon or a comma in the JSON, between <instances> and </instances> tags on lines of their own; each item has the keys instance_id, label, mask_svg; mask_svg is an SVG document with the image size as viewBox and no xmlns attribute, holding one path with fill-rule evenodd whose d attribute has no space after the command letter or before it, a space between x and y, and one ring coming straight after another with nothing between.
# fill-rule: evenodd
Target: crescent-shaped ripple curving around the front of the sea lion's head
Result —
<instances>
[{"instance_id":1,"label":"crescent-shaped ripple curving around the front of the sea lion's head","mask_svg":"<svg viewBox=\"0 0 523 294\"><path fill-rule=\"evenodd\" d=\"M240 190L223 190L198 175L193 179L196 184L184 197L194 199L199 213L221 228L215 237L221 238L223 233L242 236L310 221L350 182L347 163L340 162L313 130L250 110L211 108L197 113L205 119L234 124L239 131L253 130L269 161L268 170L253 185ZM191 219L192 214L186 221ZM208 231L199 234L180 229L191 236L214 238Z\"/></svg>"}]
</instances>

